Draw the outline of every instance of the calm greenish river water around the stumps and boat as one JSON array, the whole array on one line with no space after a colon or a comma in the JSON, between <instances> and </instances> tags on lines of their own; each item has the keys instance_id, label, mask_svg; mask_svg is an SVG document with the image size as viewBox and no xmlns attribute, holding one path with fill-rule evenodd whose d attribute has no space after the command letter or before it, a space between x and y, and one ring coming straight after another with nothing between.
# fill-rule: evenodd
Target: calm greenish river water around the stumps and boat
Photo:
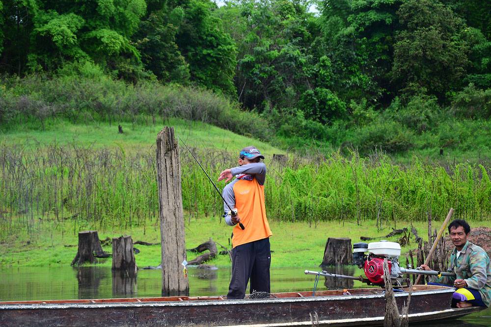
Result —
<instances>
[{"instance_id":1,"label":"calm greenish river water around the stumps and boat","mask_svg":"<svg viewBox=\"0 0 491 327\"><path fill-rule=\"evenodd\" d=\"M319 271L319 267L273 268L271 270L271 291L312 290L314 276L303 274L305 269ZM329 270L329 269L327 269ZM351 267L334 269L331 272L344 275L359 275ZM231 269L221 267L215 270L189 268L190 295L227 294ZM351 280L328 278L322 280L318 289L339 289L362 287ZM138 270L136 278L121 278L113 275L110 267L23 267L0 268L0 301L60 300L60 299L103 299L122 297L161 296L162 271ZM491 309L469 315L459 320L438 324L415 326L491 326Z\"/></svg>"}]
</instances>

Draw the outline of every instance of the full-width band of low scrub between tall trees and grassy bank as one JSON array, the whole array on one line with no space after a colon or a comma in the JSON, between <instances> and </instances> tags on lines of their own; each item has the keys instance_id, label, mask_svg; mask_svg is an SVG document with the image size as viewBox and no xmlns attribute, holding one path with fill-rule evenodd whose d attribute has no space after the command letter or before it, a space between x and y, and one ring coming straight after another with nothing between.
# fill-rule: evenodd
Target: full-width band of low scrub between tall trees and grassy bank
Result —
<instances>
[{"instance_id":1,"label":"full-width band of low scrub between tall trees and grassy bank","mask_svg":"<svg viewBox=\"0 0 491 327\"><path fill-rule=\"evenodd\" d=\"M84 77L77 78L1 79L2 131L9 133L25 124L49 129L47 124L56 119L72 124L156 126L176 117L210 123L307 155L332 151L350 155L355 150L364 156L377 149L401 156L404 162L411 153L458 162L481 162L491 156L491 94L473 84L456 94L446 110L435 97L425 95L411 97L406 104L396 98L383 112L375 111L367 101L352 101L351 120L322 124L307 119L301 111L284 115L278 110L268 114L241 110L238 103L202 88L115 81L91 67L81 67ZM439 155L440 149L444 156Z\"/></svg>"}]
</instances>

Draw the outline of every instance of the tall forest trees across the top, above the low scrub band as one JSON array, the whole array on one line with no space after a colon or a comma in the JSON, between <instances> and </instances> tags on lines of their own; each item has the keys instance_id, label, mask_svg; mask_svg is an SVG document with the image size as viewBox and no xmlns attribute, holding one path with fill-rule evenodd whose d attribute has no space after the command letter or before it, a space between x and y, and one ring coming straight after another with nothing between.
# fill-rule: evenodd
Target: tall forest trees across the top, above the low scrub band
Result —
<instances>
[{"instance_id":1,"label":"tall forest trees across the top, above the low scrub band","mask_svg":"<svg viewBox=\"0 0 491 327\"><path fill-rule=\"evenodd\" d=\"M321 125L360 122L414 97L449 105L469 85L491 87L486 1L323 0L315 7L309 0L220 7L0 0L0 72L194 85L263 115Z\"/></svg>"}]
</instances>

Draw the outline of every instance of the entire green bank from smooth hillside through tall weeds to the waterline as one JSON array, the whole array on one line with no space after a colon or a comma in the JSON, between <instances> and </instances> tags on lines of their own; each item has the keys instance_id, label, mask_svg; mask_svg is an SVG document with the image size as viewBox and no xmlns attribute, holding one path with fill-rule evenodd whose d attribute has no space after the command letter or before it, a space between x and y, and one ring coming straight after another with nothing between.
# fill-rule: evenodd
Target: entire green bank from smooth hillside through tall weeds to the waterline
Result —
<instances>
[{"instance_id":1,"label":"entire green bank from smooth hillside through tall weeds to the waterline","mask_svg":"<svg viewBox=\"0 0 491 327\"><path fill-rule=\"evenodd\" d=\"M47 118L44 128L27 121L2 131L2 266L69 264L76 247L65 245L76 245L78 231L86 229L99 230L101 239L130 234L134 240L157 242L155 141L164 125L175 128L212 178L235 166L237 150L245 145L263 151L273 266L319 264L329 236L355 242L361 235L385 235L389 227L410 224L423 236L428 214L438 224L450 207L456 209L455 218L470 220L472 226L491 222L487 165L428 164L418 157L396 165L378 151L368 157L356 152L300 157L204 122L140 118L120 123L122 134L114 122L73 124L58 118ZM273 154L287 157L273 160ZM188 248L209 237L228 247L231 229L220 221L221 200L183 150L181 169ZM159 246L139 248L139 266L159 263ZM227 260L220 256L212 263L227 265Z\"/></svg>"}]
</instances>

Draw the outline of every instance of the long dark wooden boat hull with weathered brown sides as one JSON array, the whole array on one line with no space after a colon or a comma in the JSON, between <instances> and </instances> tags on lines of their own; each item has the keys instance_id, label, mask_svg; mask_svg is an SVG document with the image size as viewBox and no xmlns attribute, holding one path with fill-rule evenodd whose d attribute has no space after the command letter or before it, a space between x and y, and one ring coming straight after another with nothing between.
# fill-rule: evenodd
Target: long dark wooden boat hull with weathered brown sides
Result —
<instances>
[{"instance_id":1,"label":"long dark wooden boat hull with weathered brown sides","mask_svg":"<svg viewBox=\"0 0 491 327\"><path fill-rule=\"evenodd\" d=\"M464 316L479 308L451 309L453 288L414 286L411 322ZM277 298L221 297L0 302L0 326L380 326L381 289L277 293ZM396 293L401 310L408 293Z\"/></svg>"}]
</instances>

